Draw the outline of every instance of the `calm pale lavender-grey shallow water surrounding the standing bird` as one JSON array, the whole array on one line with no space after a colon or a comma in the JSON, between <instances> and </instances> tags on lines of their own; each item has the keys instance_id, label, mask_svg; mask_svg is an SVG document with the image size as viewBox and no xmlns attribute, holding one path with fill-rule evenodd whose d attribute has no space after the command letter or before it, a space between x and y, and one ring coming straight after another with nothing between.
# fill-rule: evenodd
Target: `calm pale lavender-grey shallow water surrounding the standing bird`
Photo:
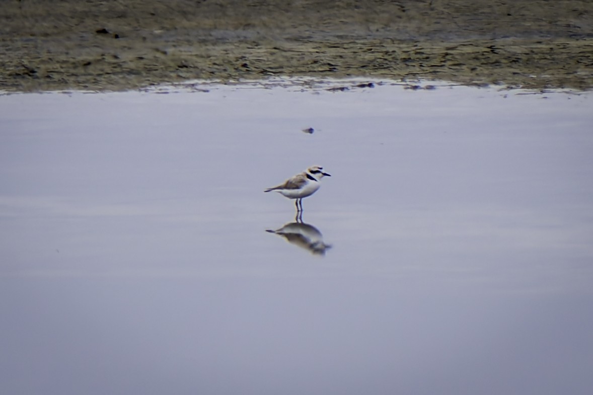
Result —
<instances>
[{"instance_id":1,"label":"calm pale lavender-grey shallow water surrounding the standing bird","mask_svg":"<svg viewBox=\"0 0 593 395\"><path fill-rule=\"evenodd\" d=\"M588 394L591 94L355 84L0 96L2 393Z\"/></svg>"}]
</instances>

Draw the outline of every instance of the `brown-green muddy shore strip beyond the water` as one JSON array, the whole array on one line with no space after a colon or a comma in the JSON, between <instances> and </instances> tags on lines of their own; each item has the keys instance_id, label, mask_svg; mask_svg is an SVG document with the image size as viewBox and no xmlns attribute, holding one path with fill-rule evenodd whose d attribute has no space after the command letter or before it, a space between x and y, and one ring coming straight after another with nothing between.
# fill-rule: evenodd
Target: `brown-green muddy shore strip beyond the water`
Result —
<instances>
[{"instance_id":1,"label":"brown-green muddy shore strip beyond the water","mask_svg":"<svg viewBox=\"0 0 593 395\"><path fill-rule=\"evenodd\" d=\"M275 75L593 87L588 0L5 0L0 90Z\"/></svg>"}]
</instances>

